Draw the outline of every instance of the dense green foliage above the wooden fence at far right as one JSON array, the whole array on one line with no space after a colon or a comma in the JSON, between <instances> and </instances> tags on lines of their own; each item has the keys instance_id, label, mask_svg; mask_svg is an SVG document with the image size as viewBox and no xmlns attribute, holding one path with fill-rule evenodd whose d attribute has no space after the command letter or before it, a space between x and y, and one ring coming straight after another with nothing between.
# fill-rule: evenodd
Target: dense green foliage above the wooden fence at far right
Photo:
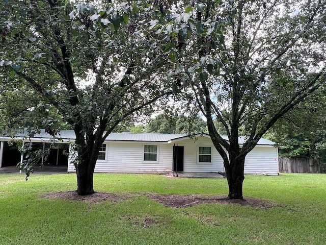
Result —
<instances>
[{"instance_id":1,"label":"dense green foliage above the wooden fence at far right","mask_svg":"<svg viewBox=\"0 0 326 245\"><path fill-rule=\"evenodd\" d=\"M267 133L275 141L281 157L312 157L326 162L324 89L284 115Z\"/></svg>"}]
</instances>

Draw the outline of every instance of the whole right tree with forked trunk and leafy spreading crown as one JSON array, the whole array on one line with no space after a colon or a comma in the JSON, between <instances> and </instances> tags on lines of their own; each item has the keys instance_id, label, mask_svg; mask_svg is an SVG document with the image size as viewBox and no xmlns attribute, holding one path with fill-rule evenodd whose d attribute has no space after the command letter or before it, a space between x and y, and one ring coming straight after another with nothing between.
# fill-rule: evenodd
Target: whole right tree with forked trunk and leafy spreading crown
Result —
<instances>
[{"instance_id":1,"label":"whole right tree with forked trunk and leafy spreading crown","mask_svg":"<svg viewBox=\"0 0 326 245\"><path fill-rule=\"evenodd\" d=\"M207 118L224 161L228 197L242 199L247 154L325 83L326 2L206 0L178 7L165 32L182 46L173 56L173 75L182 74L181 81L192 86ZM239 130L245 134L241 147Z\"/></svg>"}]
</instances>

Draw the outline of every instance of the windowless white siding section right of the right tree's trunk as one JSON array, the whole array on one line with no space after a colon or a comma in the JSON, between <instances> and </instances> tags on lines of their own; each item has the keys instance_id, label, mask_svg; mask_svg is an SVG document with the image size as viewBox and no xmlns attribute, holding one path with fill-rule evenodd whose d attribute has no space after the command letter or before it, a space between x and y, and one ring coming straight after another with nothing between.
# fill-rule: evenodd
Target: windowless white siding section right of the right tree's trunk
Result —
<instances>
[{"instance_id":1,"label":"windowless white siding section right of the right tree's trunk","mask_svg":"<svg viewBox=\"0 0 326 245\"><path fill-rule=\"evenodd\" d=\"M278 175L278 151L273 146L257 145L246 157L244 174Z\"/></svg>"}]
</instances>

